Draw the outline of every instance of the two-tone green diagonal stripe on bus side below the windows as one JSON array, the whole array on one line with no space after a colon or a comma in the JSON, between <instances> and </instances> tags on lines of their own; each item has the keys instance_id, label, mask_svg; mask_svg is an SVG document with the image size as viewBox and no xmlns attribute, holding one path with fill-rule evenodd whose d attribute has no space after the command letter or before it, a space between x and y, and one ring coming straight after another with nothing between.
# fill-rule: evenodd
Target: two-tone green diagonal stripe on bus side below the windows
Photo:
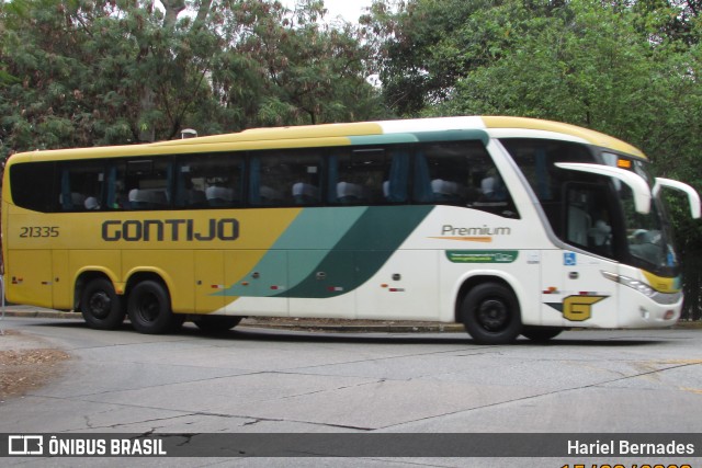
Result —
<instances>
[{"instance_id":1,"label":"two-tone green diagonal stripe on bus side below the windows","mask_svg":"<svg viewBox=\"0 0 702 468\"><path fill-rule=\"evenodd\" d=\"M432 208L306 208L245 276L256 272L260 287L239 281L216 295L327 298L346 294L373 276ZM310 239L315 249L308 247Z\"/></svg>"}]
</instances>

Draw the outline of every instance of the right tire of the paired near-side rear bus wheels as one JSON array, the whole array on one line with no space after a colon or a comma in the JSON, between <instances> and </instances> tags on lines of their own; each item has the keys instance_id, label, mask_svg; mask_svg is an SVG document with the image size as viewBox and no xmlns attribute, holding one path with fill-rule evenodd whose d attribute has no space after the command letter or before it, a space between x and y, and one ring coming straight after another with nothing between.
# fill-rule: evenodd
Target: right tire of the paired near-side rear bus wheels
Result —
<instances>
[{"instance_id":1,"label":"right tire of the paired near-side rear bus wheels","mask_svg":"<svg viewBox=\"0 0 702 468\"><path fill-rule=\"evenodd\" d=\"M155 281L144 281L132 289L127 300L127 313L132 327L140 333L168 333L174 331L178 326L168 290Z\"/></svg>"}]
</instances>

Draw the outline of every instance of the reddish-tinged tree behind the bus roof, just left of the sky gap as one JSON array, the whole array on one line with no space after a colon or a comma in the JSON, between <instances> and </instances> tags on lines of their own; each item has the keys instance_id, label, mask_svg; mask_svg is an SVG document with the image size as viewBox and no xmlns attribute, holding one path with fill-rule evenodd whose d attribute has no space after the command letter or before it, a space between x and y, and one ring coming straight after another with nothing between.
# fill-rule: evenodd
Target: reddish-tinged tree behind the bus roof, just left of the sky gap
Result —
<instances>
[{"instance_id":1,"label":"reddish-tinged tree behind the bus roof, just left of the sky gap","mask_svg":"<svg viewBox=\"0 0 702 468\"><path fill-rule=\"evenodd\" d=\"M377 91L366 81L370 50L350 24L318 20L324 2L298 4L286 14L280 4L244 2L229 24L239 41L213 80L227 106L244 103L244 117L259 125L317 124L381 115ZM233 85L246 76L245 85ZM241 105L241 104L239 104Z\"/></svg>"}]
</instances>

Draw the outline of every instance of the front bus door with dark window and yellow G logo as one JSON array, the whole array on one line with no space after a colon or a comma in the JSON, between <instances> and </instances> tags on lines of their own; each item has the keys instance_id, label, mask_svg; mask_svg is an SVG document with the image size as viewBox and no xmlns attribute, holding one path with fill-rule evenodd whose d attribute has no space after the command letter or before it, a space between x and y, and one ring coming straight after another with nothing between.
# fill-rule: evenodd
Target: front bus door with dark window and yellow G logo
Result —
<instances>
[{"instance_id":1,"label":"front bus door with dark window and yellow G logo","mask_svg":"<svg viewBox=\"0 0 702 468\"><path fill-rule=\"evenodd\" d=\"M565 185L562 238L567 246L542 256L544 324L556 326L559 318L565 327L616 327L616 284L602 275L616 273L619 264L612 260L619 229L610 193L605 184Z\"/></svg>"}]
</instances>

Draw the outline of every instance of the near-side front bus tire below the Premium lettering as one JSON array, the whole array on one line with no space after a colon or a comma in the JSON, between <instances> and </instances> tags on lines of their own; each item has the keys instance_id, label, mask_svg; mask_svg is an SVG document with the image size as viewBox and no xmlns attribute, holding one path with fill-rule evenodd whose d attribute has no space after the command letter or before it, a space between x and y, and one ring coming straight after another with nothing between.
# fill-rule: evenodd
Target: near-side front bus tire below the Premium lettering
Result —
<instances>
[{"instance_id":1,"label":"near-side front bus tire below the Premium lettering","mask_svg":"<svg viewBox=\"0 0 702 468\"><path fill-rule=\"evenodd\" d=\"M519 301L509 287L499 283L473 287L461 305L461 320L479 344L511 343L522 331Z\"/></svg>"}]
</instances>

